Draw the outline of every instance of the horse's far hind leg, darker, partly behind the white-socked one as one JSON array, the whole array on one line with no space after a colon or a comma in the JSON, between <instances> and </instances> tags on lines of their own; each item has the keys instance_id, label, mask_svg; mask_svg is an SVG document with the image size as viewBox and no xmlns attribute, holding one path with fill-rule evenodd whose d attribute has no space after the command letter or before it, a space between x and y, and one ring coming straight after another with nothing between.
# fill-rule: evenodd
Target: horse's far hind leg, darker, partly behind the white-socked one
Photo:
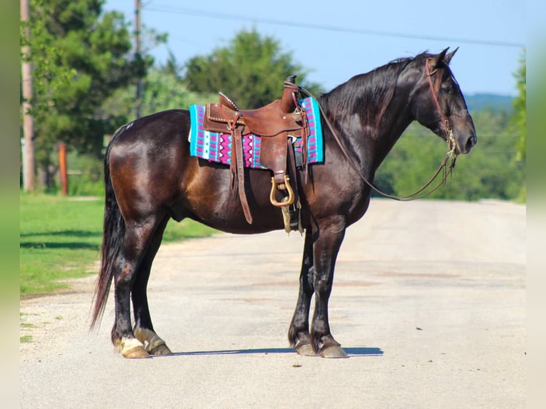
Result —
<instances>
[{"instance_id":1,"label":"horse's far hind leg, darker, partly behind the white-socked one","mask_svg":"<svg viewBox=\"0 0 546 409\"><path fill-rule=\"evenodd\" d=\"M133 314L135 315L135 326L133 333L138 341L142 342L145 351L151 355L170 355L171 351L157 333L155 333L152 319L150 317L150 309L148 308L147 287L148 279L150 278L150 269L152 268L153 259L157 254L163 239L163 232L170 217L165 217L155 230L153 237L150 239L148 250L138 266L133 289L131 290L131 298L133 299Z\"/></svg>"}]
</instances>

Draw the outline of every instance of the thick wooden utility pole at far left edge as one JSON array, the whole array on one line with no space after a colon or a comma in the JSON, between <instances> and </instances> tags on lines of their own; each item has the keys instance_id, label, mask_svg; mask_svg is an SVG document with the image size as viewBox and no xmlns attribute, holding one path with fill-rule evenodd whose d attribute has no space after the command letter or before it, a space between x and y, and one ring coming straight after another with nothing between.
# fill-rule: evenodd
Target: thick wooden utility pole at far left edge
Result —
<instances>
[{"instance_id":1,"label":"thick wooden utility pole at far left edge","mask_svg":"<svg viewBox=\"0 0 546 409\"><path fill-rule=\"evenodd\" d=\"M30 40L31 30L29 23L29 0L21 0L21 21L24 21L26 38ZM30 46L24 46L21 50L25 58L29 58ZM26 192L33 192L36 187L36 174L34 172L34 118L30 113L32 108L32 63L23 61L23 189Z\"/></svg>"}]
</instances>

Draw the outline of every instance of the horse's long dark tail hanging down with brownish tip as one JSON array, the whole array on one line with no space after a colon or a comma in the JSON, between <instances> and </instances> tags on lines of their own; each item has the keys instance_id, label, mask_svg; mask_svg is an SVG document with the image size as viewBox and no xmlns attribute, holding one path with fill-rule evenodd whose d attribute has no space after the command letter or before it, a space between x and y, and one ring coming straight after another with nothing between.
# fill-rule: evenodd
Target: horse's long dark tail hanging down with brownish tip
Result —
<instances>
[{"instance_id":1,"label":"horse's long dark tail hanging down with brownish tip","mask_svg":"<svg viewBox=\"0 0 546 409\"><path fill-rule=\"evenodd\" d=\"M91 329L100 322L104 314L110 285L113 279L113 267L115 257L118 255L123 237L125 236L125 222L115 200L112 180L110 180L110 149L115 139L123 133L126 125L115 131L104 157L104 222L103 222L103 244L101 245L101 269L98 272L98 278L95 287L93 301L93 316L91 317Z\"/></svg>"}]
</instances>

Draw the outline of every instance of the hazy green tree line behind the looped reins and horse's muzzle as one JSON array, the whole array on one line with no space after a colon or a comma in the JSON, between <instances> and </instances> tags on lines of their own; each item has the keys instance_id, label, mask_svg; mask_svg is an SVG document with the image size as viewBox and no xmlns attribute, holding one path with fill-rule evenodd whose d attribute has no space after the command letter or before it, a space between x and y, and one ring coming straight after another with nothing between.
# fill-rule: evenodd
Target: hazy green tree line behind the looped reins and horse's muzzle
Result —
<instances>
[{"instance_id":1,"label":"hazy green tree line behind the looped reins and horse's muzzle","mask_svg":"<svg viewBox=\"0 0 546 409\"><path fill-rule=\"evenodd\" d=\"M435 199L514 200L525 181L525 167L513 158L518 135L505 111L473 113L478 145L461 155L452 177L431 196ZM376 185L387 193L408 195L427 182L445 156L445 143L426 128L412 124L388 154L376 174ZM439 180L439 179L438 179Z\"/></svg>"}]
</instances>

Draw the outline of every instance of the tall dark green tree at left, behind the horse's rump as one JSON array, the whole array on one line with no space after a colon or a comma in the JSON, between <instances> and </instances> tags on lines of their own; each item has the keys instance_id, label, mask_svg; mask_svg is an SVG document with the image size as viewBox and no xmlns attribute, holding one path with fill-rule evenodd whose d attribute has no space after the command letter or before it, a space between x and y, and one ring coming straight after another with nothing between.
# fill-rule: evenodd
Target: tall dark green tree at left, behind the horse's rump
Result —
<instances>
[{"instance_id":1,"label":"tall dark green tree at left, behind the horse's rump","mask_svg":"<svg viewBox=\"0 0 546 409\"><path fill-rule=\"evenodd\" d=\"M104 0L31 0L29 58L34 64L33 110L36 162L51 175L59 142L101 155L112 127L97 108L114 90L142 78L153 63L132 56L123 14L103 14ZM43 182L47 182L43 181Z\"/></svg>"}]
</instances>

